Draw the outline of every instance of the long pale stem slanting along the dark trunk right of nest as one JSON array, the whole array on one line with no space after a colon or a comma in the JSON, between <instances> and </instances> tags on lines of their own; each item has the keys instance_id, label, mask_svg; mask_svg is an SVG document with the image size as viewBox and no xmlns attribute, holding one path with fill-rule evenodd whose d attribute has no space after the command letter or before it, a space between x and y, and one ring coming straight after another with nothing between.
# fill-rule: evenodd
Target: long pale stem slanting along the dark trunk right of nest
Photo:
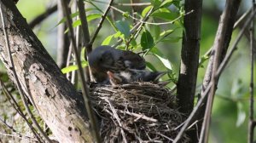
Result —
<instances>
[{"instance_id":1,"label":"long pale stem slanting along the dark trunk right of nest","mask_svg":"<svg viewBox=\"0 0 256 143\"><path fill-rule=\"evenodd\" d=\"M212 65L212 73L210 73L212 75L208 75L211 77L212 80L212 88L211 92L208 95L205 116L201 126L201 136L199 141L200 143L208 141L210 119L212 114L212 104L214 100L214 94L218 85L218 67L220 62L222 62L222 56L224 56L224 54L226 53L226 50L228 49L228 44L230 43L230 40L228 41L228 43L225 42L225 37L231 38L232 29L235 25L235 20L230 19L230 17L234 16L232 15L233 12L235 12L236 15L240 2L240 0L226 1L224 12L221 15L221 19L219 21L218 31L212 47L212 60L211 62L209 62ZM235 9L235 11L232 11L232 9ZM232 26L232 29L229 29L229 26Z\"/></svg>"}]
</instances>

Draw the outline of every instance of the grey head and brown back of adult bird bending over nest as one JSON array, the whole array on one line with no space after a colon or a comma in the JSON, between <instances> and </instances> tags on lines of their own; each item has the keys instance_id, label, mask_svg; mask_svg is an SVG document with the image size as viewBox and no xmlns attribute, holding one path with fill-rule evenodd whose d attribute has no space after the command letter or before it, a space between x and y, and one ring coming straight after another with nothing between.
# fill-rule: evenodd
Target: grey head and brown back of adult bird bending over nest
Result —
<instances>
[{"instance_id":1,"label":"grey head and brown back of adult bird bending over nest","mask_svg":"<svg viewBox=\"0 0 256 143\"><path fill-rule=\"evenodd\" d=\"M139 54L131 51L113 49L111 46L100 46L88 55L90 71L96 82L108 80L107 72L123 72L127 69L144 70L146 62Z\"/></svg>"}]
</instances>

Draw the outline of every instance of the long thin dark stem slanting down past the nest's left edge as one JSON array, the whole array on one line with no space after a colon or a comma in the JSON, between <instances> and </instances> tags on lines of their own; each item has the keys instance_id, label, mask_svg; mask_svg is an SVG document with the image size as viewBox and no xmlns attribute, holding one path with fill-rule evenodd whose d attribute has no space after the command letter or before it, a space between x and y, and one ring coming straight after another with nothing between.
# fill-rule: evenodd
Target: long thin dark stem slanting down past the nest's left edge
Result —
<instances>
[{"instance_id":1,"label":"long thin dark stem slanting down past the nest's left edge","mask_svg":"<svg viewBox=\"0 0 256 143\"><path fill-rule=\"evenodd\" d=\"M83 98L84 98L85 109L86 109L86 112L88 113L88 117L90 119L90 125L91 125L91 128L92 128L92 135L94 136L96 142L100 143L101 138L100 138L99 131L98 131L98 128L97 128L97 125L96 125L96 117L95 117L95 114L93 112L90 100L89 100L89 89L88 89L88 85L87 85L87 83L85 81L85 78L84 78L84 72L83 72L83 68L81 66L80 55L79 55L79 52L78 52L78 49L77 49L77 46L76 46L76 43L75 43L75 38L74 38L74 35L73 35L74 33L73 33L72 20L71 20L71 17L68 14L68 11L67 11L68 8L67 8L66 0L61 0L61 4L62 4L62 8L64 9L64 13L67 17L67 26L69 28L68 33L69 33L69 36L71 38L71 43L73 44L73 52L75 54L76 61L77 61L77 64L79 66L79 76L80 76L80 80L82 82L82 94L83 94Z\"/></svg>"}]
</instances>

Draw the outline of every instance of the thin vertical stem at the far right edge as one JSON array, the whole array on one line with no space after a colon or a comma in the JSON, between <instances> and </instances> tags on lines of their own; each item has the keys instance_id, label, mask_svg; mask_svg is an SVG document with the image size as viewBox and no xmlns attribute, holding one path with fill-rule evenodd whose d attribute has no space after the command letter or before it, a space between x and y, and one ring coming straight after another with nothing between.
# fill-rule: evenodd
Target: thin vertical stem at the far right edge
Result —
<instances>
[{"instance_id":1,"label":"thin vertical stem at the far right edge","mask_svg":"<svg viewBox=\"0 0 256 143\"><path fill-rule=\"evenodd\" d=\"M253 10L252 13L254 13L255 10L255 0L252 0L253 3ZM253 16L254 17L254 16ZM253 73L254 73L254 52L253 52L253 45L254 45L254 20L251 22L251 29L250 29L250 53L251 53L251 82L250 82L250 110L249 110L249 122L248 122L248 143L253 143L253 135L254 135L254 82L253 82Z\"/></svg>"}]
</instances>

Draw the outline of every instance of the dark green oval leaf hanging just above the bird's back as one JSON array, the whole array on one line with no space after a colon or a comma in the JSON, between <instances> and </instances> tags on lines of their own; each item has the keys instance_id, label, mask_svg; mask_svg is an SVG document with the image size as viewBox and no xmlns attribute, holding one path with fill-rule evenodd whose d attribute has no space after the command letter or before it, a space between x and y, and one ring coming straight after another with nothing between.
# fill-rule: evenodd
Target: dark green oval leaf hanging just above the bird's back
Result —
<instances>
[{"instance_id":1,"label":"dark green oval leaf hanging just above the bird's back","mask_svg":"<svg viewBox=\"0 0 256 143\"><path fill-rule=\"evenodd\" d=\"M143 47L143 50L151 49L154 47L154 39L151 36L149 31L143 31L143 35L141 37L141 45Z\"/></svg>"}]
</instances>

